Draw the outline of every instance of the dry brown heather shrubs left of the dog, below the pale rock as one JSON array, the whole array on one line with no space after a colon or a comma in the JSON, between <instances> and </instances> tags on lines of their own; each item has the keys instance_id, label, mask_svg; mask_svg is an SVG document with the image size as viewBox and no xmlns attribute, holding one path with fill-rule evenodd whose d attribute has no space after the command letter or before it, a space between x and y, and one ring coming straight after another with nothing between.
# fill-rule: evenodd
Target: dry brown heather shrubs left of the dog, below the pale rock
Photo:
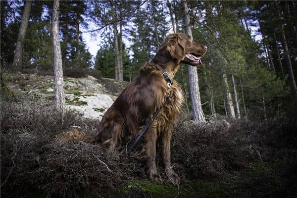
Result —
<instances>
[{"instance_id":1,"label":"dry brown heather shrubs left of the dog, below the pale rock","mask_svg":"<svg viewBox=\"0 0 297 198\"><path fill-rule=\"evenodd\" d=\"M48 106L1 104L2 192L16 192L16 197L36 190L54 197L98 196L127 180L117 152L81 141L56 141L62 129L74 125L94 135L98 121L66 111L62 128L59 118Z\"/></svg>"}]
</instances>

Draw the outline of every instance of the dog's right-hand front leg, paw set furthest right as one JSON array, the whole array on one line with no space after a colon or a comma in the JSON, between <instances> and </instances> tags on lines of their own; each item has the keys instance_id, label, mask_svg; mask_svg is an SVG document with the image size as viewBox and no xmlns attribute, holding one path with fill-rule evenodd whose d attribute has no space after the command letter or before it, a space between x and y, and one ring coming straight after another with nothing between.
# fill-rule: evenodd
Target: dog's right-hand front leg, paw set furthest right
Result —
<instances>
[{"instance_id":1,"label":"dog's right-hand front leg, paw set furthest right","mask_svg":"<svg viewBox=\"0 0 297 198\"><path fill-rule=\"evenodd\" d=\"M171 151L170 151L170 140L171 140L172 129L170 128L163 133L162 148L163 148L163 161L165 164L165 172L169 180L177 185L180 183L179 176L174 172L171 167Z\"/></svg>"}]
</instances>

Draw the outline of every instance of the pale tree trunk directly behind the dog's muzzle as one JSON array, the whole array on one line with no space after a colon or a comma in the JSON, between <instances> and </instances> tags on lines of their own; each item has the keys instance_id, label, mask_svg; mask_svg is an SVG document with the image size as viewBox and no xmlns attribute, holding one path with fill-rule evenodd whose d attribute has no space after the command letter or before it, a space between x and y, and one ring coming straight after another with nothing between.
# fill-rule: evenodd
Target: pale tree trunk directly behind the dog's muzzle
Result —
<instances>
[{"instance_id":1,"label":"pale tree trunk directly behind the dog's muzzle","mask_svg":"<svg viewBox=\"0 0 297 198\"><path fill-rule=\"evenodd\" d=\"M188 11L188 5L186 0L182 0L183 12L184 12L184 25L185 33L192 36L192 31L189 26L190 17ZM199 84L198 84L198 73L197 67L188 66L189 70L189 85L190 85L190 94L191 94L191 102L192 102L192 112L195 121L205 122L204 113L202 111L201 100L200 100L200 92L199 92Z\"/></svg>"}]
</instances>

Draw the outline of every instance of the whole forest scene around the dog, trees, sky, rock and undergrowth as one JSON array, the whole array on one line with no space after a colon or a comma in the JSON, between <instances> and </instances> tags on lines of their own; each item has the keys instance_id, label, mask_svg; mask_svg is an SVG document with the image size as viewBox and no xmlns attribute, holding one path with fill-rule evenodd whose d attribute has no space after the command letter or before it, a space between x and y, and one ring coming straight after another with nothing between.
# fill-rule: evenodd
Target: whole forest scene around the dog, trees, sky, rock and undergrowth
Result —
<instances>
[{"instance_id":1,"label":"whole forest scene around the dog, trees, sky, rock and undergrowth","mask_svg":"<svg viewBox=\"0 0 297 198\"><path fill-rule=\"evenodd\" d=\"M296 196L297 1L1 0L0 17L1 197ZM174 76L179 186L82 139L170 33L207 46Z\"/></svg>"}]
</instances>

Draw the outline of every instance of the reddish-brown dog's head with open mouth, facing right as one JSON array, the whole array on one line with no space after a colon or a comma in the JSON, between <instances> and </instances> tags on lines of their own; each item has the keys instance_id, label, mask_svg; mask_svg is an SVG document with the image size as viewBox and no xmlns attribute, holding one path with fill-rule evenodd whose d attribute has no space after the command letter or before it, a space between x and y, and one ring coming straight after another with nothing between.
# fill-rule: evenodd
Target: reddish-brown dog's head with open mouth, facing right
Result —
<instances>
[{"instance_id":1,"label":"reddish-brown dog's head with open mouth, facing right","mask_svg":"<svg viewBox=\"0 0 297 198\"><path fill-rule=\"evenodd\" d=\"M201 65L200 57L206 53L206 46L195 43L189 35L169 34L165 43L171 57L192 66Z\"/></svg>"}]
</instances>

